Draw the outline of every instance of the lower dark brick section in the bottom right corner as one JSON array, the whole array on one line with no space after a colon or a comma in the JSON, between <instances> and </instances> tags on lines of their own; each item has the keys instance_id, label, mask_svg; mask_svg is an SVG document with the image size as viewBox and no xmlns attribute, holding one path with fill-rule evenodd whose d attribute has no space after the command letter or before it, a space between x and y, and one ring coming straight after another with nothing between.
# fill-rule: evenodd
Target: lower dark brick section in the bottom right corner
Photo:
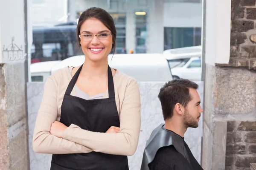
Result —
<instances>
[{"instance_id":1,"label":"lower dark brick section in the bottom right corner","mask_svg":"<svg viewBox=\"0 0 256 170\"><path fill-rule=\"evenodd\" d=\"M256 162L256 122L227 122L226 170L250 170Z\"/></svg>"}]
</instances>

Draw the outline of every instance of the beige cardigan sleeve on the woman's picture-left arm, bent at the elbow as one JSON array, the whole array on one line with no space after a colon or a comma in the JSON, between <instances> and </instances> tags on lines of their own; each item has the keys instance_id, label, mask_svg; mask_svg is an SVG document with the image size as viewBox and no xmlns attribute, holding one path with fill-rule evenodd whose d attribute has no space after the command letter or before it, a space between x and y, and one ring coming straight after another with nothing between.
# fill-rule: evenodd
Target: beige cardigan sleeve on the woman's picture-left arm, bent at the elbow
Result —
<instances>
[{"instance_id":1,"label":"beige cardigan sleeve on the woman's picture-left arm, bent at the elbow","mask_svg":"<svg viewBox=\"0 0 256 170\"><path fill-rule=\"evenodd\" d=\"M36 153L68 154L68 153L89 153L89 147L72 142L67 139L58 138L50 133L51 124L57 119L57 91L58 85L53 81L52 76L47 78L44 87L44 94L41 106L35 122L33 134L33 150Z\"/></svg>"}]
</instances>

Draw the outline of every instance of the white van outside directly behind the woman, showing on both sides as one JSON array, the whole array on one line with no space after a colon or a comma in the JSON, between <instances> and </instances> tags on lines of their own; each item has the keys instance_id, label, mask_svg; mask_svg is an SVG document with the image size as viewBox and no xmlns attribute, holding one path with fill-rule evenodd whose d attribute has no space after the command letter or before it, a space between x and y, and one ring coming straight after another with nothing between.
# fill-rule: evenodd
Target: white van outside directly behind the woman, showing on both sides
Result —
<instances>
[{"instance_id":1,"label":"white van outside directly behind the woman, showing on both sides","mask_svg":"<svg viewBox=\"0 0 256 170\"><path fill-rule=\"evenodd\" d=\"M84 59L84 56L69 57L50 67L48 73L51 75L58 69L67 66L79 66L83 64ZM167 82L173 79L169 64L163 54L110 54L108 63L112 68L133 77L138 82ZM44 67L47 62L35 64L42 64L41 67ZM35 75L34 73L37 72L36 76L39 76L33 65L30 69L31 75ZM41 76L45 80L49 75L42 74ZM32 77L32 79L35 78Z\"/></svg>"}]
</instances>

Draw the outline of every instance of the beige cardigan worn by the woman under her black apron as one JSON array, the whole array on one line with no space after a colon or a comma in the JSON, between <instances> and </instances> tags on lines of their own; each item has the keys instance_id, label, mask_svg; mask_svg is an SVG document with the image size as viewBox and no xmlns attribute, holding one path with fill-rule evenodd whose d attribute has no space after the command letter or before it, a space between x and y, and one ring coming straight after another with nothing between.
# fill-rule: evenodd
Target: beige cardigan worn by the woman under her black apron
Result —
<instances>
[{"instance_id":1,"label":"beige cardigan worn by the woman under her black apron","mask_svg":"<svg viewBox=\"0 0 256 170\"><path fill-rule=\"evenodd\" d=\"M47 78L33 135L36 153L67 154L92 151L131 156L135 153L140 133L140 91L137 81L116 71L113 77L116 107L120 119L120 133L98 133L70 125L62 138L52 135L51 124L60 120L61 104L72 79L68 67ZM71 95L76 96L73 89ZM108 91L103 98L108 98Z\"/></svg>"}]
</instances>

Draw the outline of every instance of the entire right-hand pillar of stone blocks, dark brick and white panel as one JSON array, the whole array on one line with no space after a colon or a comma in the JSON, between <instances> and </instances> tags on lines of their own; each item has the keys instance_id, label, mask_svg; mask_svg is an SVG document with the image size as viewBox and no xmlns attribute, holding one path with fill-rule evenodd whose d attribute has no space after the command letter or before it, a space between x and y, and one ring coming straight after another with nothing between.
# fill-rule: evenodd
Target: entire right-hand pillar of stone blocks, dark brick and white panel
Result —
<instances>
[{"instance_id":1,"label":"entire right-hand pillar of stone blocks, dark brick and white panel","mask_svg":"<svg viewBox=\"0 0 256 170\"><path fill-rule=\"evenodd\" d=\"M211 2L206 0L207 5ZM207 56L212 47L207 42L206 28L202 165L206 170L250 170L250 163L256 162L256 0L232 0L225 8L218 0L216 3L219 6L215 9L224 18L231 14L231 26L230 37L221 31L212 33L219 37L213 45L216 52L212 63L211 54ZM223 11L229 8L231 13L225 14ZM222 24L228 22L218 15L215 21L227 34L227 27ZM218 45L222 40L230 40L228 56ZM222 58L229 62L221 62Z\"/></svg>"}]
</instances>

